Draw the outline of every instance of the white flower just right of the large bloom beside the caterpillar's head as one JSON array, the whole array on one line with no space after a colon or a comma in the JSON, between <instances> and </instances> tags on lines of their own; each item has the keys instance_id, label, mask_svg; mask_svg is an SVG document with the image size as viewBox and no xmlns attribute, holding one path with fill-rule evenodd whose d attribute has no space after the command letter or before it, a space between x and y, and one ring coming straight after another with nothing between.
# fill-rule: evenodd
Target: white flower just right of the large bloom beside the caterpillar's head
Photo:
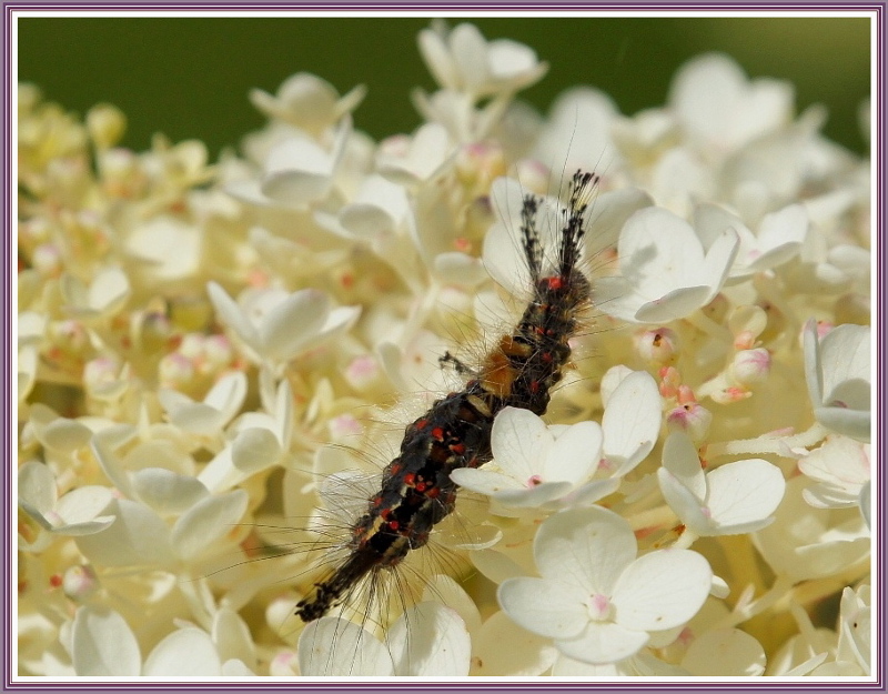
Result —
<instances>
[{"instance_id":1,"label":"white flower just right of the large bloom beside the caterpillar's head","mask_svg":"<svg viewBox=\"0 0 888 694\"><path fill-rule=\"evenodd\" d=\"M737 233L740 243L730 279L738 280L798 255L808 233L808 215L800 204L787 205L766 214L754 233L739 217L720 205L704 203L694 211L694 228L707 248L726 229Z\"/></svg>"}]
</instances>

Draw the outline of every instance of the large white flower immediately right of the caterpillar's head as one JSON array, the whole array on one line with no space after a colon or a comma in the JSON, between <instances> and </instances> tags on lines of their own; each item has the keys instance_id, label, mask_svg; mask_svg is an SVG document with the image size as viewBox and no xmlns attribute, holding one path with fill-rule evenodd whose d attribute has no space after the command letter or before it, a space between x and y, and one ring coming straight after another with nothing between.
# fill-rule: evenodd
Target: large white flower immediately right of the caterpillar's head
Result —
<instances>
[{"instance_id":1,"label":"large white flower immediately right of the caterpillar's head","mask_svg":"<svg viewBox=\"0 0 888 694\"><path fill-rule=\"evenodd\" d=\"M636 323L665 323L709 303L725 282L739 240L730 229L700 239L662 208L633 214L619 234L619 276L595 283L606 313Z\"/></svg>"}]
</instances>

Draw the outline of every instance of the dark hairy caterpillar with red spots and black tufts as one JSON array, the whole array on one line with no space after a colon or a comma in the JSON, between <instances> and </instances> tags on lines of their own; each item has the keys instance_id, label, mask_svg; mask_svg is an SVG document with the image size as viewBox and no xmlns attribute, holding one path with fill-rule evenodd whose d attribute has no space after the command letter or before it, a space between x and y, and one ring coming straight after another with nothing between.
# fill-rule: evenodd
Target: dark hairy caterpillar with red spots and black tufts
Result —
<instances>
[{"instance_id":1,"label":"dark hairy caterpillar with red spots and black tufts","mask_svg":"<svg viewBox=\"0 0 888 694\"><path fill-rule=\"evenodd\" d=\"M492 459L491 429L498 412L513 406L545 413L571 358L568 341L576 333L578 315L592 300L589 281L578 263L588 200L597 183L598 177L591 172L577 171L571 178L554 258L546 255L537 220L541 199L523 195L518 231L532 294L521 320L477 370L450 353L442 356L442 362L453 363L467 376L465 386L434 402L406 426L400 453L351 526L347 555L296 605L303 622L324 616L356 585L426 545L433 527L455 509L458 487L451 472Z\"/></svg>"}]
</instances>

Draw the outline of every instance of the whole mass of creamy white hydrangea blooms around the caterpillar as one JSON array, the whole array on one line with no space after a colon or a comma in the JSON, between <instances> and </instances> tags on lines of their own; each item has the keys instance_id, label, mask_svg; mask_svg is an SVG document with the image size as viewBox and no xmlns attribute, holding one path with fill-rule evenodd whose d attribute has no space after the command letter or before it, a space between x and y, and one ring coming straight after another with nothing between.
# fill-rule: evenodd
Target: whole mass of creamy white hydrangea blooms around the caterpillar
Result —
<instances>
[{"instance_id":1,"label":"whole mass of creamy white hydrangea blooms around the caterpillar","mask_svg":"<svg viewBox=\"0 0 888 694\"><path fill-rule=\"evenodd\" d=\"M869 163L725 56L544 115L532 49L418 47L415 132L299 73L215 163L19 87L19 673L869 675ZM548 413L454 473L425 583L303 626L440 358L524 308L515 201L599 162Z\"/></svg>"}]
</instances>

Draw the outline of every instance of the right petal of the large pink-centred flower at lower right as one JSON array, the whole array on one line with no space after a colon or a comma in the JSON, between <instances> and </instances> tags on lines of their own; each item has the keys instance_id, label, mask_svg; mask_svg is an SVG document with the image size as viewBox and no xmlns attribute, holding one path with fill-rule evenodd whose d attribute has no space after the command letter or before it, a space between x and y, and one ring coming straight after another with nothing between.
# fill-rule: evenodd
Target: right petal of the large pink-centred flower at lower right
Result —
<instances>
[{"instance_id":1,"label":"right petal of the large pink-centred flower at lower right","mask_svg":"<svg viewBox=\"0 0 888 694\"><path fill-rule=\"evenodd\" d=\"M658 550L635 560L614 587L616 621L629 628L662 631L684 624L709 595L713 572L689 550Z\"/></svg>"}]
</instances>

